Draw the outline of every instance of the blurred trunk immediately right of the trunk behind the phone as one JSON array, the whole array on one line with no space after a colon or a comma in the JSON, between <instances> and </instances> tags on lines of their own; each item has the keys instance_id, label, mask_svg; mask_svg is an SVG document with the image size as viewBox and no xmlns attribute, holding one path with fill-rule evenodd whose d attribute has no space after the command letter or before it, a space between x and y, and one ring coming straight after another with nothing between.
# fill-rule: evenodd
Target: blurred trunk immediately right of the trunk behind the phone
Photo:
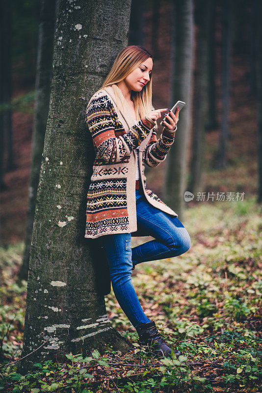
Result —
<instances>
[{"instance_id":1,"label":"blurred trunk immediately right of the trunk behind the phone","mask_svg":"<svg viewBox=\"0 0 262 393\"><path fill-rule=\"evenodd\" d=\"M201 191L203 160L205 152L205 126L207 123L207 63L209 7L212 1L198 0L195 7L196 37L195 97L193 110L192 159L188 190Z\"/></svg>"}]
</instances>

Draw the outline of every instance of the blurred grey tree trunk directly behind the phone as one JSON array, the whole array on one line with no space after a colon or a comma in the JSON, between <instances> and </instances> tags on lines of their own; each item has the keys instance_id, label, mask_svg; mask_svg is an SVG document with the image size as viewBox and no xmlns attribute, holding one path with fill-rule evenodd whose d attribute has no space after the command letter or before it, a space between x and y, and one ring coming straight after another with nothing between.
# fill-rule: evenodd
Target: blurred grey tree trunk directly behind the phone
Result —
<instances>
[{"instance_id":1,"label":"blurred grey tree trunk directly behind the phone","mask_svg":"<svg viewBox=\"0 0 262 393\"><path fill-rule=\"evenodd\" d=\"M186 165L191 126L192 60L193 60L193 4L192 0L173 1L173 70L170 107L184 101L180 113L175 142L166 158L164 184L165 202L183 220Z\"/></svg>"}]
</instances>

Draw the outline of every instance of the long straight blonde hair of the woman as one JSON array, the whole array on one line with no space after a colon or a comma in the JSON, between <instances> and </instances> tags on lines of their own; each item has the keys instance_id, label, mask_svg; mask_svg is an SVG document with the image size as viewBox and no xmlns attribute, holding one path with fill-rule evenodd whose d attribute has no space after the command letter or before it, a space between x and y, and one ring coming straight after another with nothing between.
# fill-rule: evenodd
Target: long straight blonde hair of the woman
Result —
<instances>
[{"instance_id":1,"label":"long straight blonde hair of the woman","mask_svg":"<svg viewBox=\"0 0 262 393\"><path fill-rule=\"evenodd\" d=\"M145 48L137 45L130 45L122 49L122 51L117 55L104 83L99 89L101 90L106 86L112 86L116 96L117 106L119 107L121 104L124 112L126 100L121 89L117 86L117 83L123 81L148 57L151 57L153 60L153 56ZM143 118L147 113L152 111L152 72L150 74L149 82L145 84L141 91L131 92L131 100L134 102L136 118ZM88 105L90 101L88 102Z\"/></svg>"}]
</instances>

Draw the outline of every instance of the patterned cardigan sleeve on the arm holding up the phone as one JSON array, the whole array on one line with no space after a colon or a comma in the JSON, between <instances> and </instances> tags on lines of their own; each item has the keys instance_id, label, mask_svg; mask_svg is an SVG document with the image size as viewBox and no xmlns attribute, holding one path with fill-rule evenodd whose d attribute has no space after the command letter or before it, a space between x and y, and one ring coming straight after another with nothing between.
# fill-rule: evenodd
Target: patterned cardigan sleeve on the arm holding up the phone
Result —
<instances>
[{"instance_id":1,"label":"patterned cardigan sleeve on the arm holding up the phone","mask_svg":"<svg viewBox=\"0 0 262 393\"><path fill-rule=\"evenodd\" d=\"M155 108L152 107L152 111ZM145 163L149 167L157 167L161 162L166 159L166 155L169 152L172 144L174 143L174 137L166 136L163 133L157 140L157 131L154 127L150 141L145 148Z\"/></svg>"}]
</instances>

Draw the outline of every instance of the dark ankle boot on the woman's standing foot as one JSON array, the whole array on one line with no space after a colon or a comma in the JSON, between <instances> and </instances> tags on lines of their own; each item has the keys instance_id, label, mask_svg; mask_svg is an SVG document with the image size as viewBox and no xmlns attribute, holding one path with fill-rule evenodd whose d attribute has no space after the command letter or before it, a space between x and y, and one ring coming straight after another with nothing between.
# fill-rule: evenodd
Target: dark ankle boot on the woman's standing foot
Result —
<instances>
[{"instance_id":1,"label":"dark ankle boot on the woman's standing foot","mask_svg":"<svg viewBox=\"0 0 262 393\"><path fill-rule=\"evenodd\" d=\"M153 347L153 353L157 356L166 356L171 358L171 348L164 342L162 336L157 331L155 321L142 323L135 326L138 334L138 343L140 345L150 345ZM174 354L179 357L180 351L175 351Z\"/></svg>"}]
</instances>

